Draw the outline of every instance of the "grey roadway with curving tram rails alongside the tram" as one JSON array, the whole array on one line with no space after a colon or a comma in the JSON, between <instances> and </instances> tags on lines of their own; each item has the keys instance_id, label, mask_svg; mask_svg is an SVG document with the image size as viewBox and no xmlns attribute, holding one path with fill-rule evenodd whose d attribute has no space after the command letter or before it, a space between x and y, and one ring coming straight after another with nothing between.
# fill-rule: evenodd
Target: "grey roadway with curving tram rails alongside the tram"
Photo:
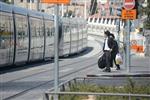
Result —
<instances>
[{"instance_id":1,"label":"grey roadway with curving tram rails alongside the tram","mask_svg":"<svg viewBox=\"0 0 150 100\"><path fill-rule=\"evenodd\" d=\"M59 61L59 83L74 77L86 76L97 67L102 54L96 41L89 41L88 49L81 54ZM27 67L27 68L25 68ZM47 89L53 87L54 63L35 64L0 75L0 100L42 100Z\"/></svg>"}]
</instances>

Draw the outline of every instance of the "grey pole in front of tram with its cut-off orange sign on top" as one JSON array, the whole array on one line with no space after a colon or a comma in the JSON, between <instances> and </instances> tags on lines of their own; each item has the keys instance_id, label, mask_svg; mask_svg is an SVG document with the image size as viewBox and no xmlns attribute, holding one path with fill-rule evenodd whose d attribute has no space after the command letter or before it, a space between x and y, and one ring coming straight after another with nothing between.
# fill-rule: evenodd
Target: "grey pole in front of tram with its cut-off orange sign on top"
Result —
<instances>
[{"instance_id":1,"label":"grey pole in front of tram with its cut-off orange sign on top","mask_svg":"<svg viewBox=\"0 0 150 100\"><path fill-rule=\"evenodd\" d=\"M48 4L56 4L55 5L55 35L54 35L54 91L57 93L59 92L58 85L59 85L59 49L58 49L58 37L59 37L59 4L68 4L70 0L41 0L41 3L48 3ZM54 95L54 100L58 100L58 95Z\"/></svg>"}]
</instances>

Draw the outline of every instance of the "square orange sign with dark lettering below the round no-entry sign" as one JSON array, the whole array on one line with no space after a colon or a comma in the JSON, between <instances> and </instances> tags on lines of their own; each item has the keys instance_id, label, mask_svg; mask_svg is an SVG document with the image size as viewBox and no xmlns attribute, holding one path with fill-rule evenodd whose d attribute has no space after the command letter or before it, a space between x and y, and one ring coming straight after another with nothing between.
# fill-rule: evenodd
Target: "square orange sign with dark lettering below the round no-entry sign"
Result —
<instances>
[{"instance_id":1,"label":"square orange sign with dark lettering below the round no-entry sign","mask_svg":"<svg viewBox=\"0 0 150 100\"><path fill-rule=\"evenodd\" d=\"M136 9L132 9L132 10L125 10L125 9L122 9L122 16L121 18L122 19L136 19Z\"/></svg>"}]
</instances>

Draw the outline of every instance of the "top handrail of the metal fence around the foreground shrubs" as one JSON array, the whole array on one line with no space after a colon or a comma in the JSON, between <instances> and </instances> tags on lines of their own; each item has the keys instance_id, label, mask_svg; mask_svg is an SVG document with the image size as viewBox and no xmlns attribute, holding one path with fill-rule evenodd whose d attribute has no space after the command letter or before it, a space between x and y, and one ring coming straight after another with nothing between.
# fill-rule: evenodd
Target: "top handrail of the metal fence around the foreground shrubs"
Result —
<instances>
[{"instance_id":1,"label":"top handrail of the metal fence around the foreground shrubs","mask_svg":"<svg viewBox=\"0 0 150 100\"><path fill-rule=\"evenodd\" d=\"M103 79L107 78L106 76L103 77L76 77L72 78L71 80L67 80L59 85L59 87L64 86L65 84L69 83L71 84L73 82L77 82L77 80L86 80L86 79ZM51 100L51 97L54 95L94 95L94 96L123 96L128 97L129 100L131 100L131 97L145 97L150 98L149 94L134 94L134 93L100 93L100 92L68 92L68 91L46 91L44 94L44 100Z\"/></svg>"}]
</instances>

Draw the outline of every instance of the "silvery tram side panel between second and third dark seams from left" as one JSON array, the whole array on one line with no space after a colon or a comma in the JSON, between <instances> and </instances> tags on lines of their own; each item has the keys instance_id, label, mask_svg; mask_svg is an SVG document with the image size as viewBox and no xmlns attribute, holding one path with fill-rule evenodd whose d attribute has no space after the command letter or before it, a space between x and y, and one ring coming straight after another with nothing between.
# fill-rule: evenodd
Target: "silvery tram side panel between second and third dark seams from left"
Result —
<instances>
[{"instance_id":1,"label":"silvery tram side panel between second and third dark seams from left","mask_svg":"<svg viewBox=\"0 0 150 100\"><path fill-rule=\"evenodd\" d=\"M44 55L44 25L42 18L30 17L30 61L42 60Z\"/></svg>"}]
</instances>

